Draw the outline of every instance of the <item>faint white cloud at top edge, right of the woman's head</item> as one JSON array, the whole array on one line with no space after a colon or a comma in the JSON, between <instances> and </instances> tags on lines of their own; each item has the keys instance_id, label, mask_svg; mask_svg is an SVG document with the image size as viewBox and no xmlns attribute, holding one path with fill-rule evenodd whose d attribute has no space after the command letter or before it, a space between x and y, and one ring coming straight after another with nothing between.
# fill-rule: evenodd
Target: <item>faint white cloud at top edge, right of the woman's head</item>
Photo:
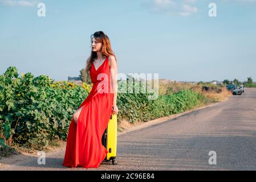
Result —
<instances>
[{"instance_id":1,"label":"faint white cloud at top edge, right of the woman's head","mask_svg":"<svg viewBox=\"0 0 256 182\"><path fill-rule=\"evenodd\" d=\"M188 16L197 13L196 0L155 0L141 3L151 13Z\"/></svg>"}]
</instances>

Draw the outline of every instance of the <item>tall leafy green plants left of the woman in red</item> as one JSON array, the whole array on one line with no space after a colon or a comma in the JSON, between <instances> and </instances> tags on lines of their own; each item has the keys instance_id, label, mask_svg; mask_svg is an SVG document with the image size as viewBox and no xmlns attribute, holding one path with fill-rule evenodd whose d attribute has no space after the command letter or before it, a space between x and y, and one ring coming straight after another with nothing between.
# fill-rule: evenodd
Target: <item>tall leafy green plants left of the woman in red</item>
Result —
<instances>
[{"instance_id":1,"label":"tall leafy green plants left of the woman in red","mask_svg":"<svg viewBox=\"0 0 256 182\"><path fill-rule=\"evenodd\" d=\"M72 114L88 93L45 75L19 77L9 67L0 75L0 152L13 144L40 149L51 140L66 139Z\"/></svg>"}]
</instances>

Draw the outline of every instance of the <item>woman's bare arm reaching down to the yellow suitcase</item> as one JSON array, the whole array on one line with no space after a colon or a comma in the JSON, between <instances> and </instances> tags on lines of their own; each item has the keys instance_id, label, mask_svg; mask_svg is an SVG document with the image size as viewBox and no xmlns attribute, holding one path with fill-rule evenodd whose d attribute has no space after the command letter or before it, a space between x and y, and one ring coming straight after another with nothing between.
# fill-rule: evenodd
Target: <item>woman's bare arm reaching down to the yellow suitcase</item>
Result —
<instances>
[{"instance_id":1,"label":"woman's bare arm reaching down to the yellow suitcase","mask_svg":"<svg viewBox=\"0 0 256 182\"><path fill-rule=\"evenodd\" d=\"M118 108L116 105L116 100L117 100L117 64L116 64L116 59L115 56L109 56L109 64L110 64L110 74L111 74L111 86L113 90L113 113L117 114L118 113Z\"/></svg>"}]
</instances>

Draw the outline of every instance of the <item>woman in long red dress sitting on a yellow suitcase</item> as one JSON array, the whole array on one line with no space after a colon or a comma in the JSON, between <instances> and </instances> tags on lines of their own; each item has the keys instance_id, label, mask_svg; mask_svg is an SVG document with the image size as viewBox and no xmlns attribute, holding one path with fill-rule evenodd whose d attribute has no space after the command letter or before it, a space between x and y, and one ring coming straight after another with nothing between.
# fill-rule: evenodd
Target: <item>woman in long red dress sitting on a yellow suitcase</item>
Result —
<instances>
[{"instance_id":1,"label":"woman in long red dress sitting on a yellow suitcase","mask_svg":"<svg viewBox=\"0 0 256 182\"><path fill-rule=\"evenodd\" d=\"M111 114L118 113L117 63L108 36L102 31L95 32L91 35L91 46L86 71L93 86L70 123L62 164L66 167L100 166L108 152L101 144L101 137Z\"/></svg>"}]
</instances>

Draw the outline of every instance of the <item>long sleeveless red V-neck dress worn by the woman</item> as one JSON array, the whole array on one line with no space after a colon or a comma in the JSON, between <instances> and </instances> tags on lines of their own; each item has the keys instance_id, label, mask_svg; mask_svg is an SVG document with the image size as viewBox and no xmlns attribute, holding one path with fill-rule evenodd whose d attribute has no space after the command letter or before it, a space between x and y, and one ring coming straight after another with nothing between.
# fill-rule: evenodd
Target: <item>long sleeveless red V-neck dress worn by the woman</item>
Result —
<instances>
[{"instance_id":1,"label":"long sleeveless red V-neck dress worn by the woman","mask_svg":"<svg viewBox=\"0 0 256 182\"><path fill-rule=\"evenodd\" d=\"M92 90L80 105L83 108L77 124L72 118L68 130L66 153L62 164L66 167L97 168L108 153L101 144L101 137L111 117L113 104L108 57L97 70L92 64L90 76ZM109 90L107 93L103 92L106 88Z\"/></svg>"}]
</instances>

